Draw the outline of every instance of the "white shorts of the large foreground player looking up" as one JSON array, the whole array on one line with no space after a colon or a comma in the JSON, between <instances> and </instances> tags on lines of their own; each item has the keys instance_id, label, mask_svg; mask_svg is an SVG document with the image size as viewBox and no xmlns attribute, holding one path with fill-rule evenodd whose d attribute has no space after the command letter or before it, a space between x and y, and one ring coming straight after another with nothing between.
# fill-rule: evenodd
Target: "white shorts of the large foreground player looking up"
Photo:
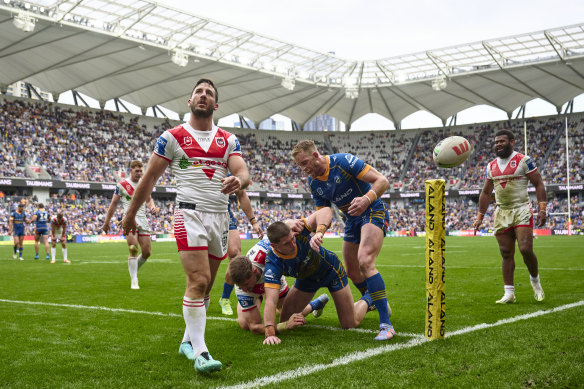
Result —
<instances>
[{"instance_id":1,"label":"white shorts of the large foreground player looking up","mask_svg":"<svg viewBox=\"0 0 584 389\"><path fill-rule=\"evenodd\" d=\"M179 251L208 250L209 258L219 261L227 257L229 214L174 210L174 237Z\"/></svg>"}]
</instances>

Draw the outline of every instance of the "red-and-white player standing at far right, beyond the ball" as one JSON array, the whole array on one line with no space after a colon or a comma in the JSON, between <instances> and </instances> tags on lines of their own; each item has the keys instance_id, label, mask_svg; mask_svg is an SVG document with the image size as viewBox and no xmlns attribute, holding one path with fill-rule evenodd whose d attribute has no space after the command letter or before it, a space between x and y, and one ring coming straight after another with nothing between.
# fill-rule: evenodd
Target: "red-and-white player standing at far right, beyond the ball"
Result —
<instances>
[{"instance_id":1,"label":"red-and-white player standing at far right, beyond the ball","mask_svg":"<svg viewBox=\"0 0 584 389\"><path fill-rule=\"evenodd\" d=\"M515 136L509 130L495 134L495 153L497 158L487 165L485 185L479 197L479 211L473 224L475 234L480 228L485 212L495 190L495 210L493 229L499 250L503 257L503 282L505 294L497 304L515 302L513 272L515 271L515 242L523 256L523 262L529 270L534 297L542 301L545 297L539 281L537 257L533 252L533 214L529 206L527 185L531 182L539 203L537 226L542 227L546 221L547 197L545 186L535 162L527 155L513 151Z\"/></svg>"}]
</instances>

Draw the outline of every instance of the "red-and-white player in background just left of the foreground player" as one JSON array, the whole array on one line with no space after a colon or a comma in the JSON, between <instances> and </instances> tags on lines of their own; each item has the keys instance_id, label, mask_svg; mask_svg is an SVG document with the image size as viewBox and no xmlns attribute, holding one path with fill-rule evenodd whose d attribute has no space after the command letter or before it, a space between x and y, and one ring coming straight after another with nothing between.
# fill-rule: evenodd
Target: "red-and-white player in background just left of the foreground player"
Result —
<instances>
[{"instance_id":1,"label":"red-and-white player in background just left of the foreground player","mask_svg":"<svg viewBox=\"0 0 584 389\"><path fill-rule=\"evenodd\" d=\"M114 195L112 196L112 202L107 209L107 214L103 221L102 231L107 234L110 228L110 220L114 215L114 212L118 206L120 200L122 200L122 205L124 210L128 209L134 191L138 186L140 178L142 178L143 172L142 162L132 161L130 162L130 179L123 180L116 185ZM156 206L151 196L148 196L146 204L151 211L156 211ZM150 225L148 224L148 219L146 217L146 204L143 204L136 213L136 225L138 230L136 232L129 231L126 235L126 242L128 242L128 250L130 251L130 256L128 257L128 270L130 272L130 288L140 289L138 284L138 270L146 262L148 257L150 257ZM138 254L138 244L140 245L140 255Z\"/></svg>"}]
</instances>

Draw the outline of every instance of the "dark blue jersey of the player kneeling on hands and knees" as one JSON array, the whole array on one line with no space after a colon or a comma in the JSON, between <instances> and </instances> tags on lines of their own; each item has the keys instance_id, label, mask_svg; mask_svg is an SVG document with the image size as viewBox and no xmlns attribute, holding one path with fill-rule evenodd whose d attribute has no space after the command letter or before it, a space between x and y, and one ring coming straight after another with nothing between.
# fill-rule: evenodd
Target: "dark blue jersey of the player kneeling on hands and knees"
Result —
<instances>
[{"instance_id":1,"label":"dark blue jersey of the player kneeling on hands and knees","mask_svg":"<svg viewBox=\"0 0 584 389\"><path fill-rule=\"evenodd\" d=\"M305 227L296 237L296 252L284 255L270 247L266 256L264 270L264 286L280 289L282 275L296 279L320 281L330 272L341 272L344 269L337 256L322 247L318 251L310 248L310 231Z\"/></svg>"}]
</instances>

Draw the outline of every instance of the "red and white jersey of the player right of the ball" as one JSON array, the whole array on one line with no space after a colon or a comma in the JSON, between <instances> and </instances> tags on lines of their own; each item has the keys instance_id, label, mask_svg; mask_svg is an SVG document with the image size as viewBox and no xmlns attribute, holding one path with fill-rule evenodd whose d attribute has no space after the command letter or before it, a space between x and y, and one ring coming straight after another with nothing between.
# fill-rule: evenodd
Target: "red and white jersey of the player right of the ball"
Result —
<instances>
[{"instance_id":1,"label":"red and white jersey of the player right of the ball","mask_svg":"<svg viewBox=\"0 0 584 389\"><path fill-rule=\"evenodd\" d=\"M493 181L495 200L502 209L529 204L527 174L535 171L535 162L514 151L508 158L497 157L487 165L487 179Z\"/></svg>"}]
</instances>

